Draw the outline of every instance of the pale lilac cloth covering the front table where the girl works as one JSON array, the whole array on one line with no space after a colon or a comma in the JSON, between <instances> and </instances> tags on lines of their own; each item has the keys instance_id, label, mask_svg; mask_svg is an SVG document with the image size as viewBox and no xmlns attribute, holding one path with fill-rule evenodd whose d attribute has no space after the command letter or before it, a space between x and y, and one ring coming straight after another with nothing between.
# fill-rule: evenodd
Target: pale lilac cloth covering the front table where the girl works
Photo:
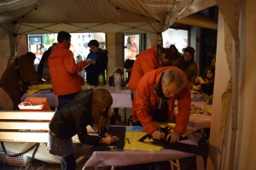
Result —
<instances>
[{"instance_id":1,"label":"pale lilac cloth covering the front table where the girl works","mask_svg":"<svg viewBox=\"0 0 256 170\"><path fill-rule=\"evenodd\" d=\"M130 127L126 127L131 130ZM192 134L191 134L192 135ZM195 138L182 141L185 144L197 144ZM144 150L110 150L110 151L94 151L90 159L84 164L83 169L86 167L108 167L112 169L116 166L128 166L142 163L149 163L155 161L171 161L184 157L195 156L189 152L178 150L159 150L159 151L144 151ZM202 156L196 158L197 169L203 168Z\"/></svg>"}]
</instances>

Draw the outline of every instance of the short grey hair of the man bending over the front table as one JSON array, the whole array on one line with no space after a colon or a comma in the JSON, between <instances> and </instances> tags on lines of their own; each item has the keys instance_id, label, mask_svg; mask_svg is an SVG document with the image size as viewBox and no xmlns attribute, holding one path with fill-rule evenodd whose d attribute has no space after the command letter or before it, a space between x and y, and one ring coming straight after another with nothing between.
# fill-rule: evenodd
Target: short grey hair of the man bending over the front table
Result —
<instances>
[{"instance_id":1,"label":"short grey hair of the man bending over the front table","mask_svg":"<svg viewBox=\"0 0 256 170\"><path fill-rule=\"evenodd\" d=\"M164 72L162 81L164 82L165 86L168 86L170 83L174 82L179 89L183 89L186 85L187 77L182 71L177 69L169 69Z\"/></svg>"}]
</instances>

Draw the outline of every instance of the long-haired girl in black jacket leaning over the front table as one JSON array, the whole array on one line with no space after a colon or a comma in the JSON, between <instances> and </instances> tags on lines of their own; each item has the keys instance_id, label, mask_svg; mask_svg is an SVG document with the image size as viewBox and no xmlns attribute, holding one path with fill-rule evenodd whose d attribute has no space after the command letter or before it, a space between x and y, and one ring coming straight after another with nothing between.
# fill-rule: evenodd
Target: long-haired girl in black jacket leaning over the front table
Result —
<instances>
[{"instance_id":1,"label":"long-haired girl in black jacket leaning over the front table","mask_svg":"<svg viewBox=\"0 0 256 170\"><path fill-rule=\"evenodd\" d=\"M55 112L49 122L47 150L49 154L61 156L62 169L76 169L72 140L74 135L78 134L82 144L90 145L112 144L119 140L117 136L108 133L112 103L112 96L107 89L87 89ZM99 135L89 135L86 130L88 125L96 129Z\"/></svg>"}]
</instances>

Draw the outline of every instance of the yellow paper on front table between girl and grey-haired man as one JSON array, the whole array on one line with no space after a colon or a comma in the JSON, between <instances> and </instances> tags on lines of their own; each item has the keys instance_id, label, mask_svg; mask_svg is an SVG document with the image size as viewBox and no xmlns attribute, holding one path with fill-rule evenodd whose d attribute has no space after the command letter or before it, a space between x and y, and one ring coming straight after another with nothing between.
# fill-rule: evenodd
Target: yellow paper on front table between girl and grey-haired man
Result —
<instances>
[{"instance_id":1,"label":"yellow paper on front table between girl and grey-haired man","mask_svg":"<svg viewBox=\"0 0 256 170\"><path fill-rule=\"evenodd\" d=\"M159 151L164 149L162 146L149 144L153 142L153 139L145 139L144 142L138 141L147 134L145 132L126 132L124 150Z\"/></svg>"}]
</instances>

